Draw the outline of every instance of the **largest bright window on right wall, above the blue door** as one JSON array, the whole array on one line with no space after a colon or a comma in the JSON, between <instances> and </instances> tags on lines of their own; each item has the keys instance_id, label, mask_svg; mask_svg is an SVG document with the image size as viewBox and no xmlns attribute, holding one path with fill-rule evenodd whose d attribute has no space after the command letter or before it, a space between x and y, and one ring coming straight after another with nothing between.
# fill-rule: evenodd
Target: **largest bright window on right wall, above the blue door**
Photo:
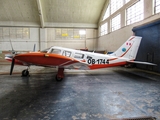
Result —
<instances>
[{"instance_id":1,"label":"largest bright window on right wall, above the blue door","mask_svg":"<svg viewBox=\"0 0 160 120\"><path fill-rule=\"evenodd\" d=\"M126 9L126 24L130 25L144 19L144 0L140 0Z\"/></svg>"}]
</instances>

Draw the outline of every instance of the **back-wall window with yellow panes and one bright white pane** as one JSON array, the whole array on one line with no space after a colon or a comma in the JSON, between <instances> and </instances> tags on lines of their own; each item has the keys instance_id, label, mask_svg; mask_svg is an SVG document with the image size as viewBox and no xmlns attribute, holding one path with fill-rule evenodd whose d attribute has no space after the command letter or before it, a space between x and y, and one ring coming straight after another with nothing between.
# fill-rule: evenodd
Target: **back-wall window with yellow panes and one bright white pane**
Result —
<instances>
[{"instance_id":1,"label":"back-wall window with yellow panes and one bright white pane","mask_svg":"<svg viewBox=\"0 0 160 120\"><path fill-rule=\"evenodd\" d=\"M57 28L56 29L56 39L59 40L74 40L74 39L85 39L86 30L85 29L67 29L67 28Z\"/></svg>"}]
</instances>

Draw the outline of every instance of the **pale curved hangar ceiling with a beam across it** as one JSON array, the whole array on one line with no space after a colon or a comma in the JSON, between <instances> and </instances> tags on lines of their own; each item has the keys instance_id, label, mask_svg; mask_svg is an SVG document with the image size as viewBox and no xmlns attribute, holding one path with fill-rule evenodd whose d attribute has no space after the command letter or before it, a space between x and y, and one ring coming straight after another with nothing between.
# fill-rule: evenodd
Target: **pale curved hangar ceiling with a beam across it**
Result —
<instances>
[{"instance_id":1,"label":"pale curved hangar ceiling with a beam across it","mask_svg":"<svg viewBox=\"0 0 160 120\"><path fill-rule=\"evenodd\" d=\"M0 26L97 28L108 0L0 0Z\"/></svg>"}]
</instances>

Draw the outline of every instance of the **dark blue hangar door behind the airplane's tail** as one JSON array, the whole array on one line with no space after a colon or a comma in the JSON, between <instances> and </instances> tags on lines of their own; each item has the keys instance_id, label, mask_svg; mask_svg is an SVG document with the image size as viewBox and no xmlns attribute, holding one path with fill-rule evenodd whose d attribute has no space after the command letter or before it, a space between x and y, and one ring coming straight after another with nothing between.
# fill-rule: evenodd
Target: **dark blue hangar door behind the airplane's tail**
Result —
<instances>
[{"instance_id":1,"label":"dark blue hangar door behind the airplane's tail","mask_svg":"<svg viewBox=\"0 0 160 120\"><path fill-rule=\"evenodd\" d=\"M136 65L138 68L160 72L160 19L132 29L142 41L136 60L156 63L158 66Z\"/></svg>"}]
</instances>

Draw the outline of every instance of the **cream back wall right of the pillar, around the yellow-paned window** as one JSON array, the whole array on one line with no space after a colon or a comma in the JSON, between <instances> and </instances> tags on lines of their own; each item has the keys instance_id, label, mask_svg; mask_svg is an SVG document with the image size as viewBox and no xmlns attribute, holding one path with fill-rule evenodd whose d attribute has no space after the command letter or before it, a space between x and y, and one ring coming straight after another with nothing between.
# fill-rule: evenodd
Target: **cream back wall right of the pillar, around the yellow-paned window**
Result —
<instances>
[{"instance_id":1,"label":"cream back wall right of the pillar, around the yellow-paned window","mask_svg":"<svg viewBox=\"0 0 160 120\"><path fill-rule=\"evenodd\" d=\"M96 29L86 29L86 39L82 40L56 40L55 28L46 28L46 31L47 47L61 46L73 49L84 49L87 47L89 50L93 50L94 41L96 41L95 38L97 38Z\"/></svg>"}]
</instances>

